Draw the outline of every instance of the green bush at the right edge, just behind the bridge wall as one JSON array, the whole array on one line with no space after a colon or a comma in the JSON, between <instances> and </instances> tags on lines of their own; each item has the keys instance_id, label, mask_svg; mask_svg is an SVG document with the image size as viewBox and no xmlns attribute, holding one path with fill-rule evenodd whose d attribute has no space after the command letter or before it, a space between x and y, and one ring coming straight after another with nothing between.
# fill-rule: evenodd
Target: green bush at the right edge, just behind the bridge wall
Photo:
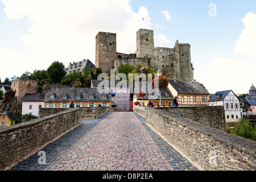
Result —
<instances>
[{"instance_id":1,"label":"green bush at the right edge, just behind the bridge wall","mask_svg":"<svg viewBox=\"0 0 256 182\"><path fill-rule=\"evenodd\" d=\"M239 123L236 126L236 135L243 138L248 138L251 140L256 140L256 130L250 121L245 118L241 118Z\"/></svg>"}]
</instances>

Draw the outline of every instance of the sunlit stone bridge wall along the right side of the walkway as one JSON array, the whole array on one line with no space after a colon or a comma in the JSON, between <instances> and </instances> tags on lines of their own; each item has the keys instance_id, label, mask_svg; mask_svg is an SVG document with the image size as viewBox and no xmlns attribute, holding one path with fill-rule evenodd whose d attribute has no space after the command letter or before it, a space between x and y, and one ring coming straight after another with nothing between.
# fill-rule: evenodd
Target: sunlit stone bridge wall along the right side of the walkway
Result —
<instances>
[{"instance_id":1,"label":"sunlit stone bridge wall along the right side of the walkway","mask_svg":"<svg viewBox=\"0 0 256 182\"><path fill-rule=\"evenodd\" d=\"M256 142L146 107L145 123L201 170L255 170Z\"/></svg>"}]
</instances>

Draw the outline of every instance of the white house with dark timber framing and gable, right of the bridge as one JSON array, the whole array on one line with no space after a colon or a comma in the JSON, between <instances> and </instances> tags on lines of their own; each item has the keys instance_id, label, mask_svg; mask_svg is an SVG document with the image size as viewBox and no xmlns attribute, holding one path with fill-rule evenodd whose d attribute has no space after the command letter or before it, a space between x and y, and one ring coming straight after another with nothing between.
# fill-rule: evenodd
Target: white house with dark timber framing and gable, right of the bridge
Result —
<instances>
[{"instance_id":1,"label":"white house with dark timber framing and gable, right of the bridge","mask_svg":"<svg viewBox=\"0 0 256 182\"><path fill-rule=\"evenodd\" d=\"M210 106L224 106L226 122L238 122L241 118L240 98L232 90L216 92L209 99Z\"/></svg>"}]
</instances>

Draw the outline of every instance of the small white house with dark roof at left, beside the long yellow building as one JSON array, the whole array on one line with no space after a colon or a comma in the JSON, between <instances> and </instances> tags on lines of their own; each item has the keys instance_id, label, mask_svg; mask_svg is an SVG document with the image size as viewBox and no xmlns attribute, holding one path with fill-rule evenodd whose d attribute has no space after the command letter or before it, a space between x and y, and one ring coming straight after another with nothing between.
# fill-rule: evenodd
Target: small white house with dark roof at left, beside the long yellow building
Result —
<instances>
[{"instance_id":1,"label":"small white house with dark roof at left, beside the long yellow building","mask_svg":"<svg viewBox=\"0 0 256 182\"><path fill-rule=\"evenodd\" d=\"M22 115L31 114L39 116L39 109L44 107L44 94L26 93L22 100Z\"/></svg>"}]
</instances>

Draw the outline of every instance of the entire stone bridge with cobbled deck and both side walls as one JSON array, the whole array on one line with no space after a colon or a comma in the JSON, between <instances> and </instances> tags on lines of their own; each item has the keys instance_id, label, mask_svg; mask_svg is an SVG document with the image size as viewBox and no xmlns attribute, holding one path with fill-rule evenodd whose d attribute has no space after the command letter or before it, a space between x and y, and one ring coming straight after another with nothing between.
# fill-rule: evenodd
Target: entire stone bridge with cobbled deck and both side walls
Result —
<instances>
[{"instance_id":1,"label":"entire stone bridge with cobbled deck and both side walls","mask_svg":"<svg viewBox=\"0 0 256 182\"><path fill-rule=\"evenodd\" d=\"M256 142L222 131L225 121L212 117L219 109L197 108L190 118L182 110L144 107L42 109L38 119L0 129L0 169L255 170ZM198 111L204 117L194 121Z\"/></svg>"}]
</instances>

